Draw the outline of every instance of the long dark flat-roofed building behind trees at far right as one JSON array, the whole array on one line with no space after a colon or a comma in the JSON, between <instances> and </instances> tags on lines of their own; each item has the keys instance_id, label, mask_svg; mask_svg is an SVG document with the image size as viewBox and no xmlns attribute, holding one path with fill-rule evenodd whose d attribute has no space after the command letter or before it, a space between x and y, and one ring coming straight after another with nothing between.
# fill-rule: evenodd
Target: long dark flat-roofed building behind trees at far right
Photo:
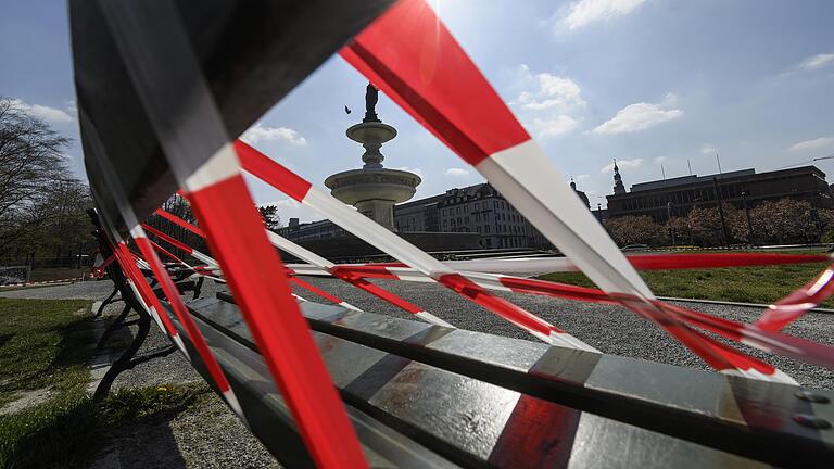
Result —
<instances>
[{"instance_id":1,"label":"long dark flat-roofed building behind trees at far right","mask_svg":"<svg viewBox=\"0 0 834 469\"><path fill-rule=\"evenodd\" d=\"M607 216L650 216L657 223L686 216L693 207L715 207L719 199L738 208L780 199L807 201L813 208L832 208L834 200L825 173L803 166L767 173L742 169L709 176L641 182L626 192L615 165L615 193L607 195Z\"/></svg>"}]
</instances>

